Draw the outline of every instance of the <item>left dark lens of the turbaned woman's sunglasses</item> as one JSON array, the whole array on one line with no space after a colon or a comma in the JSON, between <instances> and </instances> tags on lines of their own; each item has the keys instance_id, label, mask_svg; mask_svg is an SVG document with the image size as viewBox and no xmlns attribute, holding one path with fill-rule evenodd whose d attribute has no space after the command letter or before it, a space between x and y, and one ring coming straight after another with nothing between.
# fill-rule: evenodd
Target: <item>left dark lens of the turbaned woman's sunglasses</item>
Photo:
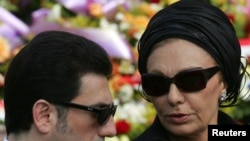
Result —
<instances>
[{"instance_id":1,"label":"left dark lens of the turbaned woman's sunglasses","mask_svg":"<svg viewBox=\"0 0 250 141\"><path fill-rule=\"evenodd\" d=\"M169 91L170 81L162 75L145 74L142 76L142 88L147 95L161 96Z\"/></svg>"}]
</instances>

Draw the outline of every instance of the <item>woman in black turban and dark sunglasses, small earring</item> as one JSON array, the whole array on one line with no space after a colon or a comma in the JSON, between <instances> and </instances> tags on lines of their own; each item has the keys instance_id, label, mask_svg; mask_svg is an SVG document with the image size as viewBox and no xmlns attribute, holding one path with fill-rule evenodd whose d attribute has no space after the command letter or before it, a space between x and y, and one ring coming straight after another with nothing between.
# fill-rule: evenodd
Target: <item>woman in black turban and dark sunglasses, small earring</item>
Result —
<instances>
[{"instance_id":1,"label":"woman in black turban and dark sunglasses, small earring","mask_svg":"<svg viewBox=\"0 0 250 141\"><path fill-rule=\"evenodd\" d=\"M207 141L208 125L237 124L219 111L237 102L246 66L228 17L181 0L159 11L139 44L144 98L157 111L135 141Z\"/></svg>"}]
</instances>

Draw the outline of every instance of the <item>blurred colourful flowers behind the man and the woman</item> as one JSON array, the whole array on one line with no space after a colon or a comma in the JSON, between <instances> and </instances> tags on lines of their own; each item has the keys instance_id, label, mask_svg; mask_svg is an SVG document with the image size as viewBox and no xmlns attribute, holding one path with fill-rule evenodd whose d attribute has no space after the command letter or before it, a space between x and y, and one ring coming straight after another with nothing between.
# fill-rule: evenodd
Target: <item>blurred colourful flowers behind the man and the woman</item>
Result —
<instances>
[{"instance_id":1,"label":"blurred colourful flowers behind the man and the woman","mask_svg":"<svg viewBox=\"0 0 250 141\"><path fill-rule=\"evenodd\" d=\"M1 0L0 98L4 76L15 54L36 34L61 30L85 36L110 55L114 71L110 87L119 105L115 122L118 136L109 141L130 141L154 120L151 103L140 97L136 44L149 19L177 0ZM208 0L226 12L235 26L244 56L250 56L250 0ZM249 67L250 68L250 67ZM250 72L250 69L249 69ZM249 80L243 92L250 88ZM250 123L250 98L237 108L222 109L242 123ZM3 101L0 120L4 123Z\"/></svg>"}]
</instances>

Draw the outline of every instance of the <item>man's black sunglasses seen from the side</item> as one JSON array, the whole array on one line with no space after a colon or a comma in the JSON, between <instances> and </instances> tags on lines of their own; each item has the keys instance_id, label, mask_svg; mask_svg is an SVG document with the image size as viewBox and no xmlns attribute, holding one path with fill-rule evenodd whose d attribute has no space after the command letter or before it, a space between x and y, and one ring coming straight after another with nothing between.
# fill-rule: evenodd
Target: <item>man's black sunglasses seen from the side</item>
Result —
<instances>
[{"instance_id":1,"label":"man's black sunglasses seen from the side","mask_svg":"<svg viewBox=\"0 0 250 141\"><path fill-rule=\"evenodd\" d=\"M70 103L70 102L56 102L56 104L96 113L98 116L97 123L100 125L105 125L108 122L109 117L111 115L112 116L115 115L116 108L117 108L117 105L114 105L114 104L112 104L109 107L101 107L101 108L79 105L79 104Z\"/></svg>"}]
</instances>

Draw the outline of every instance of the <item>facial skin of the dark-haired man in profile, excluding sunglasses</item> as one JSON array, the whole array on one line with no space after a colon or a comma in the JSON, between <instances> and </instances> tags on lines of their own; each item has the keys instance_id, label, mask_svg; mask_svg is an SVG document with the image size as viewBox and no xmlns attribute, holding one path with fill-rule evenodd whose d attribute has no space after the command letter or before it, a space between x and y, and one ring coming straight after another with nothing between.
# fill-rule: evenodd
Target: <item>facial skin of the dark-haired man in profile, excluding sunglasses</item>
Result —
<instances>
[{"instance_id":1,"label":"facial skin of the dark-haired man in profile, excluding sunglasses","mask_svg":"<svg viewBox=\"0 0 250 141\"><path fill-rule=\"evenodd\" d=\"M108 80L102 75L93 73L81 78L79 95L71 101L97 108L107 107L112 102ZM69 108L66 121L59 121L57 124L54 137L60 141L103 141L104 137L116 135L113 116L108 118L106 124L100 125L96 113L78 108Z\"/></svg>"}]
</instances>

